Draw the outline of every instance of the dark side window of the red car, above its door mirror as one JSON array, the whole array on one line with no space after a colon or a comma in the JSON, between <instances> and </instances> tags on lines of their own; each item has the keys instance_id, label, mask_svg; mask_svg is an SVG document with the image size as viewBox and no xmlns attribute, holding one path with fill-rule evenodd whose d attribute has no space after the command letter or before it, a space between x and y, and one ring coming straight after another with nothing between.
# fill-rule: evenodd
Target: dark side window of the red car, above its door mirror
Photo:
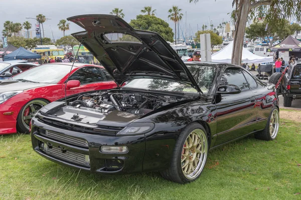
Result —
<instances>
[{"instance_id":1,"label":"dark side window of the red car, above its door mirror","mask_svg":"<svg viewBox=\"0 0 301 200\"><path fill-rule=\"evenodd\" d=\"M95 67L83 67L75 71L69 80L79 80L80 84L88 84L105 80L101 72Z\"/></svg>"}]
</instances>

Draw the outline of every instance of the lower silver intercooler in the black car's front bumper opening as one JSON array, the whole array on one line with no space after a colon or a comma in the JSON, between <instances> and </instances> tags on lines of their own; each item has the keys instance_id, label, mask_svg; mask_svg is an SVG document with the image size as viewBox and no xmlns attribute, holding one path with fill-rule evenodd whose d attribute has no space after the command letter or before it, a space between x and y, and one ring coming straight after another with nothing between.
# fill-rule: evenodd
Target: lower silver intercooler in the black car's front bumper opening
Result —
<instances>
[{"instance_id":1,"label":"lower silver intercooler in the black car's front bumper opening","mask_svg":"<svg viewBox=\"0 0 301 200\"><path fill-rule=\"evenodd\" d=\"M59 158L61 160L90 167L89 155L85 155L85 154L73 152L73 151L68 151L68 150L63 153L62 148L58 148L58 147L54 147L54 146L52 148L48 148L47 145L44 145L43 150L48 155Z\"/></svg>"}]
</instances>

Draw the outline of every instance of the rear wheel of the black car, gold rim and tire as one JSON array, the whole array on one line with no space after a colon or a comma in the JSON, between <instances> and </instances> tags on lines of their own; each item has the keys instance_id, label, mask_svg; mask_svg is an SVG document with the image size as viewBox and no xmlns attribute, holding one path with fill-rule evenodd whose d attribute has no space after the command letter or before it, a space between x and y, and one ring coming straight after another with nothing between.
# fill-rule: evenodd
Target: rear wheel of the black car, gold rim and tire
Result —
<instances>
[{"instance_id":1,"label":"rear wheel of the black car, gold rim and tire","mask_svg":"<svg viewBox=\"0 0 301 200\"><path fill-rule=\"evenodd\" d=\"M265 128L260 132L256 133L255 138L267 141L274 140L278 134L279 121L279 110L277 107L273 107L269 117L267 118Z\"/></svg>"}]
</instances>

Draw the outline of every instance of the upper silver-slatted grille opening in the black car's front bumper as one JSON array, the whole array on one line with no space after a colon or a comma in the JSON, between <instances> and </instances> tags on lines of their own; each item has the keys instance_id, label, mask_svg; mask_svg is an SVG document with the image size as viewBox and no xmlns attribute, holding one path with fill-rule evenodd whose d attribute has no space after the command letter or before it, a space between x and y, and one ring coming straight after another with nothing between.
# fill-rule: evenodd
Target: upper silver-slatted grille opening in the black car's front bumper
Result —
<instances>
[{"instance_id":1,"label":"upper silver-slatted grille opening in the black car's front bumper","mask_svg":"<svg viewBox=\"0 0 301 200\"><path fill-rule=\"evenodd\" d=\"M65 134L60 134L60 133L56 133L56 132L51 132L49 130L44 130L39 128L38 132L44 136L47 136L49 138L58 140L58 141L62 141L62 142L66 142L68 144L74 144L80 147L88 147L89 144L85 139L82 138L77 138L77 137L73 137L73 136L69 136L69 135L65 135Z\"/></svg>"}]
</instances>

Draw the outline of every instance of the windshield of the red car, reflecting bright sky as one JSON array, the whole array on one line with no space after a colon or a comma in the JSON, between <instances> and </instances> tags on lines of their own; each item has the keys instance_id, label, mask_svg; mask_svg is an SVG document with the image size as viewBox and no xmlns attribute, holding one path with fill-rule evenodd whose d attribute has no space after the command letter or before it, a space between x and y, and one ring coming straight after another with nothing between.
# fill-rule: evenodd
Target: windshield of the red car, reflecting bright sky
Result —
<instances>
[{"instance_id":1,"label":"windshield of the red car, reflecting bright sky","mask_svg":"<svg viewBox=\"0 0 301 200\"><path fill-rule=\"evenodd\" d=\"M71 69L66 64L42 64L26 70L10 79L26 79L43 83L58 83Z\"/></svg>"}]
</instances>

